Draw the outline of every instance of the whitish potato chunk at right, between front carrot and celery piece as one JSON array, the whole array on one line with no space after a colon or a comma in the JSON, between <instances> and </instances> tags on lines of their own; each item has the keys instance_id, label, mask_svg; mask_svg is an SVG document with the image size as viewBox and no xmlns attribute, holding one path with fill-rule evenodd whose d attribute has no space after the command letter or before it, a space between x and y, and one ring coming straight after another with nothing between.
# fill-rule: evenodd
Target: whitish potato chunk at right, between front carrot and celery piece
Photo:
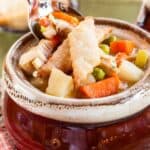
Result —
<instances>
[{"instance_id":1,"label":"whitish potato chunk at right, between front carrot and celery piece","mask_svg":"<svg viewBox=\"0 0 150 150\"><path fill-rule=\"evenodd\" d=\"M139 81L143 75L144 72L129 61L124 60L119 66L119 77L124 81L134 83Z\"/></svg>"}]
</instances>

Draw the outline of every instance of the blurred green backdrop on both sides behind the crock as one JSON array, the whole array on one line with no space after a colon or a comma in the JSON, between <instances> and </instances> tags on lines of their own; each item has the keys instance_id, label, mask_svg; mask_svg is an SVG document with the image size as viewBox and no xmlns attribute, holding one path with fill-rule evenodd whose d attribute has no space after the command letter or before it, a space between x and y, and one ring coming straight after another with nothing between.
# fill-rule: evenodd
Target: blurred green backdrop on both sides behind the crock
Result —
<instances>
[{"instance_id":1,"label":"blurred green backdrop on both sides behind the crock","mask_svg":"<svg viewBox=\"0 0 150 150\"><path fill-rule=\"evenodd\" d=\"M113 17L132 23L136 21L140 6L140 0L79 0L79 9L84 15ZM0 68L8 49L21 35L0 30Z\"/></svg>"}]
</instances>

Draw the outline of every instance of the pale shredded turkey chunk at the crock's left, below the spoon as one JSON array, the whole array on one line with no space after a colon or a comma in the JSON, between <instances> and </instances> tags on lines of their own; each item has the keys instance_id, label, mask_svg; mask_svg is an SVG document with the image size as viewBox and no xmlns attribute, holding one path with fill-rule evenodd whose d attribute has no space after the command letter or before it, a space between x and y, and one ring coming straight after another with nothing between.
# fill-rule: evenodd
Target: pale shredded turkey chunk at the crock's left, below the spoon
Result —
<instances>
[{"instance_id":1,"label":"pale shredded turkey chunk at the crock's left, below the spoon","mask_svg":"<svg viewBox=\"0 0 150 150\"><path fill-rule=\"evenodd\" d=\"M34 69L40 68L48 60L53 48L54 45L52 42L41 40L37 46L32 47L29 51L21 55L19 66L26 73L32 74Z\"/></svg>"}]
</instances>

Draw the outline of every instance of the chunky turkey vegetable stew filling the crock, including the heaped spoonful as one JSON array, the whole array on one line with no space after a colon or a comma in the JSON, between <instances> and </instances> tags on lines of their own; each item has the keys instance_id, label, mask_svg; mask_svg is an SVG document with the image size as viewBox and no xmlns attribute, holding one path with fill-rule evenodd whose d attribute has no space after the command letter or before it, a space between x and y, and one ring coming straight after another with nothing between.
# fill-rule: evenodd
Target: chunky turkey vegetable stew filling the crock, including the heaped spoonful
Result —
<instances>
[{"instance_id":1,"label":"chunky turkey vegetable stew filling the crock, including the heaped spoonful","mask_svg":"<svg viewBox=\"0 0 150 150\"><path fill-rule=\"evenodd\" d=\"M19 66L32 85L52 96L100 98L142 79L147 49L114 35L111 27L97 27L92 17L81 22L62 12L53 17L64 24L54 26L48 18L40 19L43 39L20 57Z\"/></svg>"}]
</instances>

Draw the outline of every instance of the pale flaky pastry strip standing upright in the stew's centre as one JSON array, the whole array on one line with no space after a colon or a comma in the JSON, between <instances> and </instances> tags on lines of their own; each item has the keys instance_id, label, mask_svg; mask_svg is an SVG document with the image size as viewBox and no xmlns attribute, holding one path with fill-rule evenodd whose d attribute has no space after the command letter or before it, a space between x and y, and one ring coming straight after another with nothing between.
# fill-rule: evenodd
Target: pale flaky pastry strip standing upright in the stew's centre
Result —
<instances>
[{"instance_id":1,"label":"pale flaky pastry strip standing upright in the stew's centre","mask_svg":"<svg viewBox=\"0 0 150 150\"><path fill-rule=\"evenodd\" d=\"M77 86L87 84L88 74L100 63L94 19L81 22L69 34L69 43L75 83Z\"/></svg>"}]
</instances>

